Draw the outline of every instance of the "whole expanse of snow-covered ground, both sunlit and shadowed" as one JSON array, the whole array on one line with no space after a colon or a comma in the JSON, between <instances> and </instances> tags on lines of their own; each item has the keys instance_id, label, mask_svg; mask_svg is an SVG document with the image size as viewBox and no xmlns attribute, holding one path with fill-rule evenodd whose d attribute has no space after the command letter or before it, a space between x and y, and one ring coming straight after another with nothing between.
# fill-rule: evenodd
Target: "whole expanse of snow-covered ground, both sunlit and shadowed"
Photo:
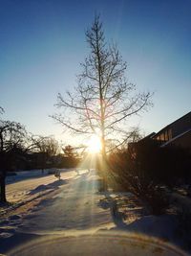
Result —
<instances>
[{"instance_id":1,"label":"whole expanse of snow-covered ground, both sunlit and shadowed","mask_svg":"<svg viewBox=\"0 0 191 256\"><path fill-rule=\"evenodd\" d=\"M48 171L9 177L7 195L12 203L0 212L0 253L39 236L81 231L141 233L181 244L173 215L143 216L133 195L99 193L98 188L95 170L62 170L61 180Z\"/></svg>"}]
</instances>

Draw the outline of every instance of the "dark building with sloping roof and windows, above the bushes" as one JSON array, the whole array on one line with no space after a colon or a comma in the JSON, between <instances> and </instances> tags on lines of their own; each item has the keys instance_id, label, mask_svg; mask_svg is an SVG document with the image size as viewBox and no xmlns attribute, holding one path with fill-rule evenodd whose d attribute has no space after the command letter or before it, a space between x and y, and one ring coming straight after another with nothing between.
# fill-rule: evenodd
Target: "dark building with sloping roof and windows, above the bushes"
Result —
<instances>
[{"instance_id":1,"label":"dark building with sloping roof and windows, above the bushes","mask_svg":"<svg viewBox=\"0 0 191 256\"><path fill-rule=\"evenodd\" d=\"M191 111L151 136L161 147L175 145L191 150Z\"/></svg>"}]
</instances>

